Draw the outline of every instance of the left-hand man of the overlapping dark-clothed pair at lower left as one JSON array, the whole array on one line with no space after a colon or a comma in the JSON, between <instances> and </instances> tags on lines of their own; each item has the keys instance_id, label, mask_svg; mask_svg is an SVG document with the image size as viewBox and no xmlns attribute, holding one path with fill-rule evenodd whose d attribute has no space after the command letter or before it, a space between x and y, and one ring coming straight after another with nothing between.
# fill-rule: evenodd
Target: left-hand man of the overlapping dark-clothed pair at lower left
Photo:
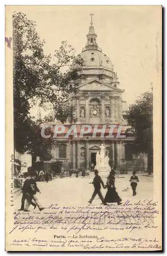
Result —
<instances>
[{"instance_id":1,"label":"left-hand man of the overlapping dark-clothed pair at lower left","mask_svg":"<svg viewBox=\"0 0 167 256\"><path fill-rule=\"evenodd\" d=\"M24 210L25 199L26 200L29 199L29 183L30 183L31 177L29 176L28 173L25 173L24 177L25 177L25 181L24 181L24 184L21 188L22 189L21 208L18 209L18 210ZM31 201L31 204L34 206L34 209L35 209L37 205L32 201Z\"/></svg>"}]
</instances>

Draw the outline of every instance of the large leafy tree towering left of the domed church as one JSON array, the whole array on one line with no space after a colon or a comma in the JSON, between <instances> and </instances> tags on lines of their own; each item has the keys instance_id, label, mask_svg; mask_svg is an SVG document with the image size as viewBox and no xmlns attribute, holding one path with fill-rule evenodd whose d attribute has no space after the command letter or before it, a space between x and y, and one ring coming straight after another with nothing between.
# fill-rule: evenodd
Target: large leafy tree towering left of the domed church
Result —
<instances>
[{"instance_id":1,"label":"large leafy tree towering left of the domed church","mask_svg":"<svg viewBox=\"0 0 167 256\"><path fill-rule=\"evenodd\" d=\"M35 22L21 12L13 14L14 146L21 154L34 152L37 145L44 152L46 139L43 141L42 136L37 139L39 123L30 117L30 109L37 100L39 106L51 102L54 117L62 123L76 121L69 94L78 91L74 80L82 60L75 59L75 50L66 41L54 51L53 57L46 56L44 43ZM53 142L49 143L52 146ZM47 148L49 143L46 141Z\"/></svg>"}]
</instances>

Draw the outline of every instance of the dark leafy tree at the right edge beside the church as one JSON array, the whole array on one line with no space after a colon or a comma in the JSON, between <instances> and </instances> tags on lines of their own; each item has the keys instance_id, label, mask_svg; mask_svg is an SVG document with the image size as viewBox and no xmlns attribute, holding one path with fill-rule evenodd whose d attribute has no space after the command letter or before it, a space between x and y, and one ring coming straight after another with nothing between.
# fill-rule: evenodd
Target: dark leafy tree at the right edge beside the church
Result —
<instances>
[{"instance_id":1,"label":"dark leafy tree at the right edge beside the church","mask_svg":"<svg viewBox=\"0 0 167 256\"><path fill-rule=\"evenodd\" d=\"M153 171L153 92L143 93L129 106L128 124L136 133L132 143L134 154L145 153L148 156L148 173Z\"/></svg>"}]
</instances>

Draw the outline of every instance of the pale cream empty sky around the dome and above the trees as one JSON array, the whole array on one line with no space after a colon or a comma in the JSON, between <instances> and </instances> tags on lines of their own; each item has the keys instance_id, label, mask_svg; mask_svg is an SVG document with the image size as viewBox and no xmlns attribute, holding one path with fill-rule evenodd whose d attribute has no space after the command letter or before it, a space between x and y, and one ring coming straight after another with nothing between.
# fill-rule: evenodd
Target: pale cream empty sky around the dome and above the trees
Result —
<instances>
[{"instance_id":1,"label":"pale cream empty sky around the dome and above the trees","mask_svg":"<svg viewBox=\"0 0 167 256\"><path fill-rule=\"evenodd\" d=\"M12 6L36 21L45 40L44 51L53 54L67 40L79 54L87 42L93 13L97 44L117 72L123 100L131 104L156 86L161 61L160 6Z\"/></svg>"}]
</instances>

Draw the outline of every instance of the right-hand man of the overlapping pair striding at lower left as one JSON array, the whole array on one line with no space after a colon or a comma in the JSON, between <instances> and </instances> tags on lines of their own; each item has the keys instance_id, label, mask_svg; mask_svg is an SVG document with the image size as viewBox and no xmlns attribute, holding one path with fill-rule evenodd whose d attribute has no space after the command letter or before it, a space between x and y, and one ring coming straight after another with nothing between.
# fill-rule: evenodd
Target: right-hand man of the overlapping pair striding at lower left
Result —
<instances>
[{"instance_id":1,"label":"right-hand man of the overlapping pair striding at lower left","mask_svg":"<svg viewBox=\"0 0 167 256\"><path fill-rule=\"evenodd\" d=\"M27 187L27 191L28 191L28 194L29 194L29 199L27 200L26 202L26 205L24 207L24 211L29 211L29 207L30 207L30 204L32 203L32 200L35 201L36 205L38 206L39 210L43 210L44 207L42 207L42 205L40 204L37 196L36 196L36 193L40 192L39 188L37 187L37 183L35 181L35 177L31 177L31 179L29 180L29 185Z\"/></svg>"}]
</instances>

